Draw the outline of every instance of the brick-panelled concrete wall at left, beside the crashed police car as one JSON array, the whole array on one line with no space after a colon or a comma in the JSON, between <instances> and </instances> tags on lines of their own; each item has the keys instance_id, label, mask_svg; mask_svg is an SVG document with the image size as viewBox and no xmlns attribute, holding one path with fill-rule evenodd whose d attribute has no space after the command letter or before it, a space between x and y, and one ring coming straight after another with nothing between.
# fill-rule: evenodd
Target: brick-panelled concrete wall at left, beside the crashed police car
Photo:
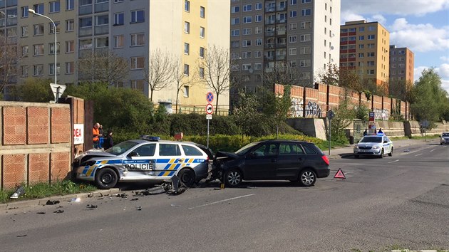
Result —
<instances>
[{"instance_id":1,"label":"brick-panelled concrete wall at left, beside the crashed police car","mask_svg":"<svg viewBox=\"0 0 449 252\"><path fill-rule=\"evenodd\" d=\"M0 189L53 182L71 164L68 104L0 102Z\"/></svg>"}]
</instances>

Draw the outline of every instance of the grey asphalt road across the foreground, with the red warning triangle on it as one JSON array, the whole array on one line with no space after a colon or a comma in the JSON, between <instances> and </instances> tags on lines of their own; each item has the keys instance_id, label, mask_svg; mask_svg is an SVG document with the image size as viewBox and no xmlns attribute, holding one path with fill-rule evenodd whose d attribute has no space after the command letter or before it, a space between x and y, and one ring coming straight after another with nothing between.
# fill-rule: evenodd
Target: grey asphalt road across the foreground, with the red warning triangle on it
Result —
<instances>
[{"instance_id":1,"label":"grey asphalt road across the foreground, with the red warning triangle on it","mask_svg":"<svg viewBox=\"0 0 449 252\"><path fill-rule=\"evenodd\" d=\"M346 179L333 179L339 168ZM126 191L128 199L2 211L0 251L449 248L449 146L436 141L383 159L331 160L331 177L310 188L290 182L218 187L177 196ZM59 209L64 212L53 213Z\"/></svg>"}]
</instances>

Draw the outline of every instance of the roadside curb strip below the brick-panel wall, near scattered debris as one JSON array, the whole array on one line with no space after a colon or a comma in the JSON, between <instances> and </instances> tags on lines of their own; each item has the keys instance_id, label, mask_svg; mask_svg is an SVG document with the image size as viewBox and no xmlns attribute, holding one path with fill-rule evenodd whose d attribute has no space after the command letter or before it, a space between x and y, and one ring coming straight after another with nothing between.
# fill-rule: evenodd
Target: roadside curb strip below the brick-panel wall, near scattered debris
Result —
<instances>
[{"instance_id":1,"label":"roadside curb strip below the brick-panel wall, near scattered debris","mask_svg":"<svg viewBox=\"0 0 449 252\"><path fill-rule=\"evenodd\" d=\"M58 200L58 201L70 201L73 198L80 198L80 199L86 199L88 198L88 195L93 194L93 196L100 196L100 194L114 194L118 193L120 189L113 188L109 190L98 190L98 191L91 191L91 192L84 192L81 194L67 194L67 195L58 195L58 196L50 196L47 198L42 199L28 199L18 202L10 202L6 204L0 204L0 210L11 210L11 209L20 209L24 207L30 207L30 206L42 206L45 205L48 200Z\"/></svg>"}]
</instances>

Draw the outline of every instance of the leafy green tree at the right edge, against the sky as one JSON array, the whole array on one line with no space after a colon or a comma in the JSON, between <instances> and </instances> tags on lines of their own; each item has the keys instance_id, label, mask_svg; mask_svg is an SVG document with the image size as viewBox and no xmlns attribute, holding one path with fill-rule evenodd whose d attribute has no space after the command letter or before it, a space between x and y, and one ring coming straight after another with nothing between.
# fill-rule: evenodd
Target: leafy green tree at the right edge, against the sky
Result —
<instances>
[{"instance_id":1,"label":"leafy green tree at the right edge, against the sky","mask_svg":"<svg viewBox=\"0 0 449 252\"><path fill-rule=\"evenodd\" d=\"M411 112L417 120L436 122L448 113L448 93L441 87L441 78L434 68L425 69L413 85Z\"/></svg>"}]
</instances>

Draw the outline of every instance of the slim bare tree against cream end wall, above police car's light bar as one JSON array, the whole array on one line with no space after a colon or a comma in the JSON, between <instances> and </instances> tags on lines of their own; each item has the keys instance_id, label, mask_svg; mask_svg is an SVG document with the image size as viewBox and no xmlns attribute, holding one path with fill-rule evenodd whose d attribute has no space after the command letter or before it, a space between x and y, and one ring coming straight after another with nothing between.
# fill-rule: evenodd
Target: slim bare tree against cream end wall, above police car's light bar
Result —
<instances>
[{"instance_id":1,"label":"slim bare tree against cream end wall, above police car's light bar","mask_svg":"<svg viewBox=\"0 0 449 252\"><path fill-rule=\"evenodd\" d=\"M173 61L169 53L158 48L150 53L150 60L147 62L148 65L145 65L143 75L150 90L150 101L153 101L155 91L163 90L170 86Z\"/></svg>"}]
</instances>

